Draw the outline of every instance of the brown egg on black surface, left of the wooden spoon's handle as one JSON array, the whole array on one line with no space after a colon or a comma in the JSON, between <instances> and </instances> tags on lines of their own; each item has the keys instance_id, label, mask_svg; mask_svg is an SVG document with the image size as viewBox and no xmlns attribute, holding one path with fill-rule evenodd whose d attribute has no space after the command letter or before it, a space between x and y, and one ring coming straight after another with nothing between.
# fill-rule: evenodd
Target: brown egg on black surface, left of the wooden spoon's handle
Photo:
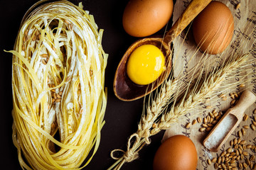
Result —
<instances>
[{"instance_id":1,"label":"brown egg on black surface, left of the wooden spoon's handle","mask_svg":"<svg viewBox=\"0 0 256 170\"><path fill-rule=\"evenodd\" d=\"M152 35L171 18L173 0L131 0L124 8L124 30L134 37Z\"/></svg>"}]
</instances>

